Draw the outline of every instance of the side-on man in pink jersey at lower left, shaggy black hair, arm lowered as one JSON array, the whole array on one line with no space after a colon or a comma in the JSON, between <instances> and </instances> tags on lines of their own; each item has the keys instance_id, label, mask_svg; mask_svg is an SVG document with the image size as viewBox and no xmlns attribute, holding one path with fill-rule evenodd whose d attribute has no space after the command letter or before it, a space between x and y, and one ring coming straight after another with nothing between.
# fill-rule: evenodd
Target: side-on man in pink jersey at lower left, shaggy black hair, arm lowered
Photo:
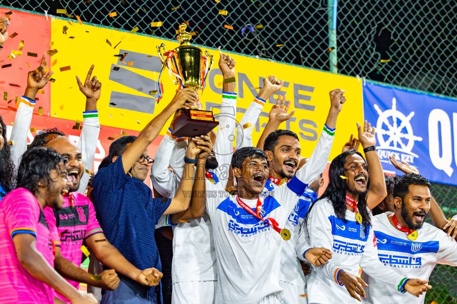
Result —
<instances>
[{"instance_id":1,"label":"side-on man in pink jersey at lower left, shaggy black hair, arm lowered","mask_svg":"<svg viewBox=\"0 0 457 304\"><path fill-rule=\"evenodd\" d=\"M17 188L0 202L0 303L53 304L54 289L73 304L96 304L53 268L53 238L43 208L62 207L71 182L66 159L53 149L30 149L21 159Z\"/></svg>"}]
</instances>

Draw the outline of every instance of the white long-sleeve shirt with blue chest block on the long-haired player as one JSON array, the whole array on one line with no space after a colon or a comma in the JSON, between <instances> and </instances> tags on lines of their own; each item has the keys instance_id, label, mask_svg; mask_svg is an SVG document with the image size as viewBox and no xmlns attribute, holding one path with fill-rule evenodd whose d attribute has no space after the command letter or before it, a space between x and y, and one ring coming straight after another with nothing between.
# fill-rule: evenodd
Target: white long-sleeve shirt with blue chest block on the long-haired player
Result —
<instances>
[{"instance_id":1,"label":"white long-sleeve shirt with blue chest block on the long-haired player","mask_svg":"<svg viewBox=\"0 0 457 304\"><path fill-rule=\"evenodd\" d=\"M379 261L373 228L368 226L369 231L365 233L363 225L356 222L355 212L346 209L347 222L344 222L335 215L328 199L316 201L309 212L311 247L324 247L333 252L331 260L323 266L313 266L309 274L309 303L359 303L338 281L341 270L358 275L359 265L365 273L382 280L391 288L403 290L407 278ZM397 293L401 295L399 291Z\"/></svg>"}]
</instances>

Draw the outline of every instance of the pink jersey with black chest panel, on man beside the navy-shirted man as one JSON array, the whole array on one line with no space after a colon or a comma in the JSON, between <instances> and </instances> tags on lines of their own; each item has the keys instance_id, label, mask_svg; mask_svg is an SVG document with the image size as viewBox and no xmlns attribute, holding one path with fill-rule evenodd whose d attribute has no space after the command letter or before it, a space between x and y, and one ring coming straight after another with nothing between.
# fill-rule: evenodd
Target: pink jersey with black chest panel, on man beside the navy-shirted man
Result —
<instances>
[{"instance_id":1,"label":"pink jersey with black chest panel, on man beside the navy-shirted man","mask_svg":"<svg viewBox=\"0 0 457 304\"><path fill-rule=\"evenodd\" d=\"M70 199L73 200L73 204ZM54 244L60 247L62 257L79 267L83 258L81 245L84 240L96 233L103 233L103 230L101 230L95 216L94 205L87 197L78 192L70 192L69 196L64 197L64 201L62 209L54 210L46 206L43 212L55 240ZM79 289L79 282L68 279L67 281ZM60 294L56 293L56 296L70 303Z\"/></svg>"}]
</instances>

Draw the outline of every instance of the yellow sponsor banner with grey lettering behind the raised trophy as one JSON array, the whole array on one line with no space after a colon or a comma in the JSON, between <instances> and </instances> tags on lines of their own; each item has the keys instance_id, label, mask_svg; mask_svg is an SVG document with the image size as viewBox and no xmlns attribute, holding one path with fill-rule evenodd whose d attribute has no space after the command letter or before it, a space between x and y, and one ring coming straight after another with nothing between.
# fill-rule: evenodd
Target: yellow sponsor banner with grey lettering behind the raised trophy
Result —
<instances>
[{"instance_id":1,"label":"yellow sponsor banner with grey lettering behind the raised trophy","mask_svg":"<svg viewBox=\"0 0 457 304\"><path fill-rule=\"evenodd\" d=\"M68 27L66 34L63 33L64 26ZM171 50L179 45L177 41L79 23L70 25L68 21L58 19L54 19L51 31L52 49L58 50L51 57L52 62L57 59L52 67L56 81L51 85L51 111L58 118L82 120L80 108L85 99L79 92L75 76L78 75L84 82L91 64L95 64L92 76L97 76L102 82L102 94L97 105L102 125L141 130L173 98L177 87L165 69L162 73L164 97L158 104L155 102L158 95L154 91L159 90L157 80L161 67L155 46L165 43L165 49ZM219 52L217 49L208 51L214 55L214 65L208 74L203 94L199 92L205 110L221 103L223 81L217 63ZM128 55L121 62L122 57L116 55L124 52ZM296 109L297 112L281 128L291 129L298 134L302 156L311 155L318 134L324 127L330 106L330 90L344 89L347 100L338 119L330 159L340 154L350 134L356 133L356 122L362 123L362 83L357 78L225 53L236 61L237 121L256 96L258 89L255 88L261 86L263 77L275 75L278 79L284 79L285 85L277 94L287 94L287 99L292 100L290 110ZM276 103L276 98L277 95L267 101L260 115L252 134L254 144L268 121L268 112ZM218 110L214 113L218 113ZM170 121L160 134L165 134Z\"/></svg>"}]
</instances>

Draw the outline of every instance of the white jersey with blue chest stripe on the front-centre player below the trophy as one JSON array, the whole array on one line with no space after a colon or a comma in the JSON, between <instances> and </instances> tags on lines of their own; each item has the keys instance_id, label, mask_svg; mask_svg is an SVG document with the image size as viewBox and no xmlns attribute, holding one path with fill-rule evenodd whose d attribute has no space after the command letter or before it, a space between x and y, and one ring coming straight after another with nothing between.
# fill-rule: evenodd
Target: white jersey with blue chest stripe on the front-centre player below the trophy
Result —
<instances>
[{"instance_id":1,"label":"white jersey with blue chest stripe on the front-centre player below the trophy","mask_svg":"<svg viewBox=\"0 0 457 304\"><path fill-rule=\"evenodd\" d=\"M304 184L300 183L297 179L296 185L303 188ZM291 186L284 184L272 195L260 198L260 215L275 219L280 228L285 226L297 202L298 190L291 190ZM207 191L216 190L214 185L207 184ZM243 201L255 210L257 199ZM255 304L269 294L281 292L278 277L284 242L281 235L239 206L236 196L223 198L219 193L218 197L207 196L206 211L213 225L218 264L215 303Z\"/></svg>"}]
</instances>

